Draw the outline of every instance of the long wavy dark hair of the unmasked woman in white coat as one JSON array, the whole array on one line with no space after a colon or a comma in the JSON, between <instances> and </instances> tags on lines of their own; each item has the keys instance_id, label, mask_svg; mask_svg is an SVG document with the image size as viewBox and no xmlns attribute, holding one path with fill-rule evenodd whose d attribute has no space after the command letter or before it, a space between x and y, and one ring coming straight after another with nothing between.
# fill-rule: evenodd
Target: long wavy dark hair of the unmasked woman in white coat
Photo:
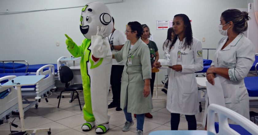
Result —
<instances>
[{"instance_id":1,"label":"long wavy dark hair of the unmasked woman in white coat","mask_svg":"<svg viewBox=\"0 0 258 135\"><path fill-rule=\"evenodd\" d=\"M186 48L192 49L193 32L192 32L192 26L191 26L191 23L190 23L190 19L185 14L177 14L174 17L181 17L183 19L183 21L184 21L184 25L185 25L185 35L184 35L184 37L186 38L186 41L183 44L184 50L186 50ZM176 43L177 39L178 39L178 35L176 35L174 37L174 39L172 40L172 43L170 44L169 50L172 48L172 46L174 46L174 44Z\"/></svg>"}]
</instances>

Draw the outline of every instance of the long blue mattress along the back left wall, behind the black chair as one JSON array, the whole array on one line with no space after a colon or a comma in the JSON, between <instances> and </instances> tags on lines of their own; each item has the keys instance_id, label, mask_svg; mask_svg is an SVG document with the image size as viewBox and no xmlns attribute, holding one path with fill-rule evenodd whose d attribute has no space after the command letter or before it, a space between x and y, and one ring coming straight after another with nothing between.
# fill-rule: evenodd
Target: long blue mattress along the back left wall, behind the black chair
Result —
<instances>
[{"instance_id":1,"label":"long blue mattress along the back left wall, behind the black chair","mask_svg":"<svg viewBox=\"0 0 258 135\"><path fill-rule=\"evenodd\" d=\"M29 65L28 71L27 72L37 72L37 70L39 68L41 68L42 66L45 66L48 64L35 64L35 65ZM54 65L55 68L55 72L57 73L57 64L52 64ZM24 67L20 67L20 68L16 68L16 69L3 69L0 68L0 73L3 73L5 71L5 73L13 73L15 71L15 73L24 73L26 71L27 66ZM48 70L48 68L45 68L43 71Z\"/></svg>"}]
</instances>

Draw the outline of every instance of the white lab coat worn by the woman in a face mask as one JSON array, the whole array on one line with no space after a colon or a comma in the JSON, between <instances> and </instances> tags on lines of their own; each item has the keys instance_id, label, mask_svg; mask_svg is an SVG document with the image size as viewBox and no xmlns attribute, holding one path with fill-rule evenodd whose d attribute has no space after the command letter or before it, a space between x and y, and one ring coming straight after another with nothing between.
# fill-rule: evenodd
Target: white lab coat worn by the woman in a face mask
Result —
<instances>
[{"instance_id":1,"label":"white lab coat worn by the woman in a face mask","mask_svg":"<svg viewBox=\"0 0 258 135\"><path fill-rule=\"evenodd\" d=\"M211 65L229 68L230 80L216 74L224 91L226 107L250 119L249 98L244 85L244 78L255 60L255 48L248 38L239 34L228 46L221 50L227 39L228 36L225 36L219 41Z\"/></svg>"}]
</instances>

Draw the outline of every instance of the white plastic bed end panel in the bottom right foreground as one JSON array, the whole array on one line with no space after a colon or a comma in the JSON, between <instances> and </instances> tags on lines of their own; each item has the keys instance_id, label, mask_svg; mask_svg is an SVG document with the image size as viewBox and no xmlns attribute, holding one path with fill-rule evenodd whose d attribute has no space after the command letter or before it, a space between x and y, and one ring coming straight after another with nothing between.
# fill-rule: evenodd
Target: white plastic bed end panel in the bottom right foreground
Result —
<instances>
[{"instance_id":1,"label":"white plastic bed end panel in the bottom right foreground","mask_svg":"<svg viewBox=\"0 0 258 135\"><path fill-rule=\"evenodd\" d=\"M228 118L242 126L251 134L258 133L258 126L245 118L244 116L230 110L226 107L211 104L208 107L208 119L207 119L207 130L216 134L215 130L215 112L217 112L219 118L219 133L221 135L239 135L235 130L229 127Z\"/></svg>"}]
</instances>

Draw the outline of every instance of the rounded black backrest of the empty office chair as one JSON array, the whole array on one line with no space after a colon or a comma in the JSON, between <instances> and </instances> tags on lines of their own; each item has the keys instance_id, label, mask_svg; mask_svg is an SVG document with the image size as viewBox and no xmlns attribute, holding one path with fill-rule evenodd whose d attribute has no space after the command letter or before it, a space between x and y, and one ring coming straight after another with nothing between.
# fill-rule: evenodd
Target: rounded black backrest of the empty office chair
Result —
<instances>
[{"instance_id":1,"label":"rounded black backrest of the empty office chair","mask_svg":"<svg viewBox=\"0 0 258 135\"><path fill-rule=\"evenodd\" d=\"M68 66L61 66L59 71L62 83L68 83L73 79L72 70Z\"/></svg>"}]
</instances>

